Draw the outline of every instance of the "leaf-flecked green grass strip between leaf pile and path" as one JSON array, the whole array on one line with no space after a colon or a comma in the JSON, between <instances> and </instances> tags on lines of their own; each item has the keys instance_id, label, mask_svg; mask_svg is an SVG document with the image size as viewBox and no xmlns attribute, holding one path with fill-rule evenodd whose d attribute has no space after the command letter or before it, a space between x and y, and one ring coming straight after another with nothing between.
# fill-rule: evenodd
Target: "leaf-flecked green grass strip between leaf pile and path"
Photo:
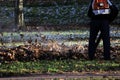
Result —
<instances>
[{"instance_id":1,"label":"leaf-flecked green grass strip between leaf pile and path","mask_svg":"<svg viewBox=\"0 0 120 80\"><path fill-rule=\"evenodd\" d=\"M0 65L0 76L30 73L65 73L65 72L105 72L120 71L120 62L85 61L85 60L41 60L35 62L12 62Z\"/></svg>"}]
</instances>

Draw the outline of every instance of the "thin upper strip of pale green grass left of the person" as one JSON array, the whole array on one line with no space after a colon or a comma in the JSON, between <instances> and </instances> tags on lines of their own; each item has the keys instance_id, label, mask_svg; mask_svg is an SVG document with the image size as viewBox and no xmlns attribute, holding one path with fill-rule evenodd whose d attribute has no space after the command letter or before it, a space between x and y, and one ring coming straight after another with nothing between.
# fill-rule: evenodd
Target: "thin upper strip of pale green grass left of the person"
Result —
<instances>
[{"instance_id":1,"label":"thin upper strip of pale green grass left of the person","mask_svg":"<svg viewBox=\"0 0 120 80\"><path fill-rule=\"evenodd\" d=\"M19 34L27 34L27 35L35 35L35 34L44 34L44 35L56 35L56 34L61 34L61 35L69 35L69 34L86 34L88 29L82 29L82 30L66 30L66 31L32 31L32 32L3 32L4 36L10 36L11 33L13 36L18 36Z\"/></svg>"}]
</instances>

